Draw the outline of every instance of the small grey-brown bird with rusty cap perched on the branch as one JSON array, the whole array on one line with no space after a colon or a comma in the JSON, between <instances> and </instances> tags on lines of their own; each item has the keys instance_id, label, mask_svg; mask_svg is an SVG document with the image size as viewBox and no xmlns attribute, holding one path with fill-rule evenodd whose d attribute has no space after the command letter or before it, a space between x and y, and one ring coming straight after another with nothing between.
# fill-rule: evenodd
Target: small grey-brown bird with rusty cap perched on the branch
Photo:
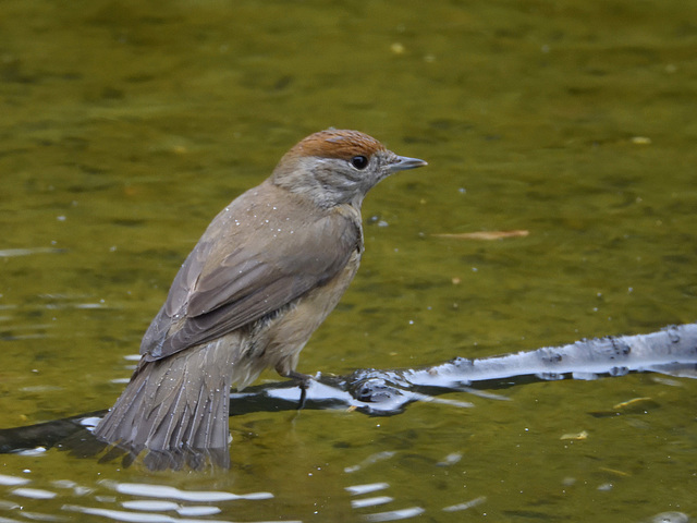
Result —
<instances>
[{"instance_id":1,"label":"small grey-brown bird with rusty cap perched on the branch","mask_svg":"<svg viewBox=\"0 0 697 523\"><path fill-rule=\"evenodd\" d=\"M208 226L140 343L95 436L152 469L229 465L229 392L285 377L363 254L360 205L393 172L426 166L357 131L315 133Z\"/></svg>"}]
</instances>

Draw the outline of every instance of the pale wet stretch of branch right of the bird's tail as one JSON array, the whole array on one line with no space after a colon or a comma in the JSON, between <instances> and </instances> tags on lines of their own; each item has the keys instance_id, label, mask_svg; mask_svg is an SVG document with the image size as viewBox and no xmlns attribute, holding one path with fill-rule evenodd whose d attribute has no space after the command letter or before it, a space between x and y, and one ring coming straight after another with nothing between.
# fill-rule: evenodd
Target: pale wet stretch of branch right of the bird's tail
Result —
<instances>
[{"instance_id":1,"label":"pale wet stretch of branch right of the bird's tail","mask_svg":"<svg viewBox=\"0 0 697 523\"><path fill-rule=\"evenodd\" d=\"M529 381L596 379L637 372L697 377L697 324L502 356L455 357L421 368L358 369L348 376L318 376L307 390L306 408L353 408L369 414L395 414L414 401L438 401L436 396L457 390L477 393ZM293 384L270 384L233 394L233 400L260 396L296 404L299 390ZM231 412L241 406L235 403L231 403Z\"/></svg>"}]
</instances>

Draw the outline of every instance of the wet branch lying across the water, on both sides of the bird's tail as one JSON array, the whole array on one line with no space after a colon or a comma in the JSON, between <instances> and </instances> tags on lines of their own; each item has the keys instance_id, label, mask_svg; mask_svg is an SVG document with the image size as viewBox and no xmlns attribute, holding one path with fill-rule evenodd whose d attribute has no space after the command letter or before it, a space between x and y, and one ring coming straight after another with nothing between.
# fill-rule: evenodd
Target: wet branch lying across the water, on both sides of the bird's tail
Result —
<instances>
[{"instance_id":1,"label":"wet branch lying across the water, on both sides of the bird's tail","mask_svg":"<svg viewBox=\"0 0 697 523\"><path fill-rule=\"evenodd\" d=\"M352 409L367 414L396 414L415 401L470 406L438 396L452 391L484 392L529 381L595 379L655 372L697 377L697 324L668 327L650 335L582 340L502 356L450 362L421 368L358 369L347 376L317 376L306 389L304 409ZM297 409L301 389L293 381L259 385L232 393L231 415ZM505 398L502 398L505 399ZM89 455L105 445L90 429L107 411L28 427L0 430L0 452L59 447Z\"/></svg>"}]
</instances>

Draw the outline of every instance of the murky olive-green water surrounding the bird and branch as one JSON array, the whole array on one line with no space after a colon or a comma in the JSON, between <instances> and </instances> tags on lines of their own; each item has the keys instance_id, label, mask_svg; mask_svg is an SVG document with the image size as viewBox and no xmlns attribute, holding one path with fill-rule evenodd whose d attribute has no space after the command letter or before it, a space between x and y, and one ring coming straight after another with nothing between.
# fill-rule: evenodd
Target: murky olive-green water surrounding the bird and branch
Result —
<instances>
[{"instance_id":1,"label":"murky olive-green water surrounding the bird and branch","mask_svg":"<svg viewBox=\"0 0 697 523\"><path fill-rule=\"evenodd\" d=\"M429 167L369 194L360 271L298 370L694 321L696 20L684 1L4 0L0 428L109 406L209 220L332 125ZM505 230L529 235L435 236ZM647 374L388 418L245 414L220 473L4 454L0 474L54 496L0 485L0 518L118 519L70 509L143 499L109 481L273 495L181 502L220 510L207 521L697 518L696 392ZM647 399L615 408L633 398ZM346 490L371 483L387 487ZM375 496L392 500L351 504Z\"/></svg>"}]
</instances>

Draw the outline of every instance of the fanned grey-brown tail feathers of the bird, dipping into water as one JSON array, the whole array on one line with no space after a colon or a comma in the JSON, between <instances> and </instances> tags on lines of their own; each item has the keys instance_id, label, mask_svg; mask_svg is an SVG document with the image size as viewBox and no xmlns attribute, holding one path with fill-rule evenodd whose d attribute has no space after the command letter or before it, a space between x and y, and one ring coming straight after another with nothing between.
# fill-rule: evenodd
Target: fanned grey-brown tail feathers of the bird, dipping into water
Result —
<instances>
[{"instance_id":1,"label":"fanned grey-brown tail feathers of the bird, dipping into water","mask_svg":"<svg viewBox=\"0 0 697 523\"><path fill-rule=\"evenodd\" d=\"M142 361L95 436L130 460L146 451L150 469L229 466L230 352L213 342Z\"/></svg>"}]
</instances>

